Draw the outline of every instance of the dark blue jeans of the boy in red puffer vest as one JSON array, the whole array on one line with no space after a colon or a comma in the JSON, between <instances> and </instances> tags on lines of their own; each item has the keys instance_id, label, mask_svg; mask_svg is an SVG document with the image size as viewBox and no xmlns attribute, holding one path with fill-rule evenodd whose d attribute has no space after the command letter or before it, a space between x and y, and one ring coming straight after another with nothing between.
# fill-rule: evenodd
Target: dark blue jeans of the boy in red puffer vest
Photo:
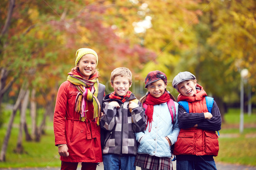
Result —
<instances>
[{"instance_id":1,"label":"dark blue jeans of the boy in red puffer vest","mask_svg":"<svg viewBox=\"0 0 256 170\"><path fill-rule=\"evenodd\" d=\"M217 170L215 161L177 161L177 170Z\"/></svg>"}]
</instances>

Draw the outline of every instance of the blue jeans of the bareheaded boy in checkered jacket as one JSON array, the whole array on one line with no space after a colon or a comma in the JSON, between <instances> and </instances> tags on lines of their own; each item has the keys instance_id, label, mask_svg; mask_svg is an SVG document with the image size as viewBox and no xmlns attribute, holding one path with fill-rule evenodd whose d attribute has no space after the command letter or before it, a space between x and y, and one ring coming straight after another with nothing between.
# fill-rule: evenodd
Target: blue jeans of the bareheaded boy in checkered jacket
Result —
<instances>
[{"instance_id":1,"label":"blue jeans of the bareheaded boy in checkered jacket","mask_svg":"<svg viewBox=\"0 0 256 170\"><path fill-rule=\"evenodd\" d=\"M115 154L102 155L104 170L136 170L135 157Z\"/></svg>"}]
</instances>

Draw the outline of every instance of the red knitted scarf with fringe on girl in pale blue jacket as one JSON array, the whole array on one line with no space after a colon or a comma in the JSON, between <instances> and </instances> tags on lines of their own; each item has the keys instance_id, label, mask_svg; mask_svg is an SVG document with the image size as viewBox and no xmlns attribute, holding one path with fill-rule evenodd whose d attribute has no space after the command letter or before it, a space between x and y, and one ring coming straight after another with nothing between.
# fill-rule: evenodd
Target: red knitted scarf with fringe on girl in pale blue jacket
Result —
<instances>
[{"instance_id":1,"label":"red knitted scarf with fringe on girl in pale blue jacket","mask_svg":"<svg viewBox=\"0 0 256 170\"><path fill-rule=\"evenodd\" d=\"M165 103L168 102L171 99L170 95L168 93L166 93L166 91L163 93L162 96L160 97L154 97L151 94L148 94L146 100L145 100L145 104L148 105L147 110L145 111L145 114L147 116L147 125L146 128L149 124L148 127L148 132L151 131L151 125L152 125L152 121L153 121L153 113L154 113L154 105L158 105L161 103Z\"/></svg>"}]
</instances>

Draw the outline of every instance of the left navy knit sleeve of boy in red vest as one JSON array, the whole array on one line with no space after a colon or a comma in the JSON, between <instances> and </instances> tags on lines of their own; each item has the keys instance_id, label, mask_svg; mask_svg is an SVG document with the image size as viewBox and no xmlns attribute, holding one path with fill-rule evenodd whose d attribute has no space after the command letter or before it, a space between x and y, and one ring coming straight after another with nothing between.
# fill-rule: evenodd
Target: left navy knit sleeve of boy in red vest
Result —
<instances>
[{"instance_id":1,"label":"left navy knit sleeve of boy in red vest","mask_svg":"<svg viewBox=\"0 0 256 170\"><path fill-rule=\"evenodd\" d=\"M179 105L178 119L180 129L186 129L204 121L205 118L203 113L186 113L186 110Z\"/></svg>"}]
</instances>

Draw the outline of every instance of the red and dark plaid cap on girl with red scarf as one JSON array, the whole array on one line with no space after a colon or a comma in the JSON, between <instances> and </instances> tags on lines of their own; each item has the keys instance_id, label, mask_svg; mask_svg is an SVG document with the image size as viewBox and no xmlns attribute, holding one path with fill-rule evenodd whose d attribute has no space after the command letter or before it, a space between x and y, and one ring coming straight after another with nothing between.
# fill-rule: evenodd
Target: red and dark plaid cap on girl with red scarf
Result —
<instances>
[{"instance_id":1,"label":"red and dark plaid cap on girl with red scarf","mask_svg":"<svg viewBox=\"0 0 256 170\"><path fill-rule=\"evenodd\" d=\"M164 74L161 71L150 71L147 75L147 77L145 78L145 88L147 88L147 86L152 83L155 82L157 80L162 79L163 82L167 85L167 77L166 74Z\"/></svg>"}]
</instances>

